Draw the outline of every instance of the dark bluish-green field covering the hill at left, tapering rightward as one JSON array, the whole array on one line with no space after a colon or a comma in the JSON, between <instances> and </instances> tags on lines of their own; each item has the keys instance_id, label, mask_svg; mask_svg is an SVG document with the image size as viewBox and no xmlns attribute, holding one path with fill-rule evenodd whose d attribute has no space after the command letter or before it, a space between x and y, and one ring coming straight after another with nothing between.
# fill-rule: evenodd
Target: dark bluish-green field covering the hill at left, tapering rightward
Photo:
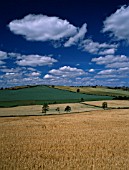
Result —
<instances>
[{"instance_id":1,"label":"dark bluish-green field covering the hill at left, tapering rightward","mask_svg":"<svg viewBox=\"0 0 129 170\"><path fill-rule=\"evenodd\" d=\"M48 86L37 86L19 90L0 90L0 107L23 105L41 105L47 103L72 103L94 100L111 100L112 97L100 95L87 95L82 93L60 90Z\"/></svg>"}]
</instances>

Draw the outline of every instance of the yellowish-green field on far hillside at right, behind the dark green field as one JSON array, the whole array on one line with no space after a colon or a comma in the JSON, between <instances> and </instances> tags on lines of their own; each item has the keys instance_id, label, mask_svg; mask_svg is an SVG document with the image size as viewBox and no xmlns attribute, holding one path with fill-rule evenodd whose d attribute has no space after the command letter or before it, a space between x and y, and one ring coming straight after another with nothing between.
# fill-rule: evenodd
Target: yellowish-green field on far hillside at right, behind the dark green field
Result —
<instances>
[{"instance_id":1,"label":"yellowish-green field on far hillside at right, behind the dark green field","mask_svg":"<svg viewBox=\"0 0 129 170\"><path fill-rule=\"evenodd\" d=\"M96 94L96 95L108 95L108 96L127 96L129 97L129 91L122 89L109 89L107 87L70 87L70 86L55 86L57 89L63 89L68 91L76 92L77 89L80 89L80 93L86 94Z\"/></svg>"}]
</instances>

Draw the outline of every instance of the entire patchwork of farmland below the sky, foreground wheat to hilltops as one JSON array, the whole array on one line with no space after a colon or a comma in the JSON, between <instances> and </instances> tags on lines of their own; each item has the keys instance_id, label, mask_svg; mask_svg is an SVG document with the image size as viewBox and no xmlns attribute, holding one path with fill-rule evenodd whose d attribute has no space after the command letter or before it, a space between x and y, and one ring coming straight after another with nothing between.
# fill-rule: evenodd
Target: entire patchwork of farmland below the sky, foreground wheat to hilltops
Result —
<instances>
[{"instance_id":1,"label":"entire patchwork of farmland below the sky, foreground wheat to hilltops","mask_svg":"<svg viewBox=\"0 0 129 170\"><path fill-rule=\"evenodd\" d=\"M95 94L69 88L0 91L1 170L129 169L129 100L115 100L125 91L103 87L105 96L100 87Z\"/></svg>"}]
</instances>

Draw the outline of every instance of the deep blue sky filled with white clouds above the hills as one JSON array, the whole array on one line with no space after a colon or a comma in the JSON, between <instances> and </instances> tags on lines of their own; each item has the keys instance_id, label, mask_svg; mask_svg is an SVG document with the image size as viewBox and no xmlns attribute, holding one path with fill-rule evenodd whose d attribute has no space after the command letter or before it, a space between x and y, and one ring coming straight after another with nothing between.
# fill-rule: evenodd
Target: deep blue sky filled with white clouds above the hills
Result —
<instances>
[{"instance_id":1,"label":"deep blue sky filled with white clouds above the hills","mask_svg":"<svg viewBox=\"0 0 129 170\"><path fill-rule=\"evenodd\" d=\"M129 0L0 1L0 87L129 86Z\"/></svg>"}]
</instances>

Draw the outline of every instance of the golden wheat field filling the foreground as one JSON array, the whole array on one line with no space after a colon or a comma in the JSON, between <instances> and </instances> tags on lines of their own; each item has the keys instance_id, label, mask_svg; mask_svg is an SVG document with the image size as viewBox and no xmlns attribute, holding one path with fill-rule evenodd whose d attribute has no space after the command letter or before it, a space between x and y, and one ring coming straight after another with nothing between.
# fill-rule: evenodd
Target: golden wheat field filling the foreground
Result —
<instances>
[{"instance_id":1,"label":"golden wheat field filling the foreground","mask_svg":"<svg viewBox=\"0 0 129 170\"><path fill-rule=\"evenodd\" d=\"M129 109L0 118L1 170L128 170Z\"/></svg>"}]
</instances>

